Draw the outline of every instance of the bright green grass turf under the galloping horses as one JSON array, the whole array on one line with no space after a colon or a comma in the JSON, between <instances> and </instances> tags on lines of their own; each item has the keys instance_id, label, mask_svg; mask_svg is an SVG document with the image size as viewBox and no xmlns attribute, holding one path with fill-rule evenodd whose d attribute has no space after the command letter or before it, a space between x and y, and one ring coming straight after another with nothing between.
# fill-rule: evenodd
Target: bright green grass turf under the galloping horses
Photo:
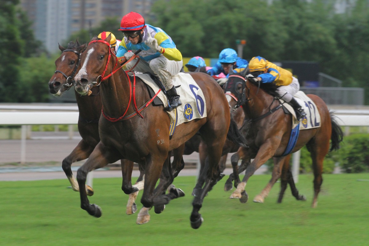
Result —
<instances>
[{"instance_id":1,"label":"bright green grass turf under the galloping horses","mask_svg":"<svg viewBox=\"0 0 369 246\"><path fill-rule=\"evenodd\" d=\"M252 199L269 175L252 176L246 185L249 201L241 204L224 192L225 178L205 198L204 222L190 226L194 177L177 177L185 197L173 200L162 214L136 225L126 215L128 196L121 179L94 179L90 203L103 215L94 218L79 206L79 193L68 180L0 182L0 245L369 245L369 174L325 174L318 207L310 207L313 176L300 175L297 188L307 197L296 201L290 190L277 204L279 183L264 204ZM142 194L142 192L140 192ZM138 197L137 204L141 208Z\"/></svg>"}]
</instances>

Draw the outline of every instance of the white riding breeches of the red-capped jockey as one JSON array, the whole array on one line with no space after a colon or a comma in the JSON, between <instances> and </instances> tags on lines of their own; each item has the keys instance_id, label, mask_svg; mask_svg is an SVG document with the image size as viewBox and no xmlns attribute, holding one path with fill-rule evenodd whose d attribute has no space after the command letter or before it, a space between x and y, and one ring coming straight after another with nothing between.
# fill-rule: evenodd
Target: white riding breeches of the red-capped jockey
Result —
<instances>
[{"instance_id":1,"label":"white riding breeches of the red-capped jockey","mask_svg":"<svg viewBox=\"0 0 369 246\"><path fill-rule=\"evenodd\" d=\"M131 69L137 62L137 58L125 65L125 70ZM183 66L183 61L169 60L165 56L159 56L148 62L140 59L139 63L135 66L136 72L150 72L153 75L158 75L159 79L163 83L165 90L169 90L173 87L172 75L176 75L180 72Z\"/></svg>"}]
</instances>

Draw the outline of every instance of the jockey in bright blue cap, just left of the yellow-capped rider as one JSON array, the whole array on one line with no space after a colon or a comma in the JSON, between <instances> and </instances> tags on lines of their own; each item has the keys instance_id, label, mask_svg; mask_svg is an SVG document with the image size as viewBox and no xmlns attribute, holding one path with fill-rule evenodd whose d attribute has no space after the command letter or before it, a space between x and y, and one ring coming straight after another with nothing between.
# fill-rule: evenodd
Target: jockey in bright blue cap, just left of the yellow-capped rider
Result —
<instances>
[{"instance_id":1,"label":"jockey in bright blue cap, just left of the yellow-capped rider","mask_svg":"<svg viewBox=\"0 0 369 246\"><path fill-rule=\"evenodd\" d=\"M227 48L223 49L223 51L219 53L219 60L217 64L215 64L213 68L209 69L207 73L211 76L224 73L226 78L217 80L218 84L223 85L228 80L228 73L230 72L231 66L233 66L233 71L235 73L239 73L246 69L247 65L247 60L239 58L234 49Z\"/></svg>"}]
</instances>

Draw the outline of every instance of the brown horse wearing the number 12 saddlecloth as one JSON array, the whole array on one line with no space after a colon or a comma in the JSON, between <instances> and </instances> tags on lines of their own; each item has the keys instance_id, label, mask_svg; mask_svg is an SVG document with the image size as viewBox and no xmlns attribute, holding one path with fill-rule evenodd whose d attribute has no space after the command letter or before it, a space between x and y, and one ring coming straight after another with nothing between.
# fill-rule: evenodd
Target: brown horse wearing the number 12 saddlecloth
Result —
<instances>
[{"instance_id":1,"label":"brown horse wearing the number 12 saddlecloth","mask_svg":"<svg viewBox=\"0 0 369 246\"><path fill-rule=\"evenodd\" d=\"M275 157L272 179L262 193L254 199L254 201L262 202L268 195L272 185L279 179L282 167L289 162L290 158L285 153L285 150L291 135L292 115L285 114L280 101L267 93L267 88L265 90L260 89L260 86L260 84L254 84L245 79L245 73L231 73L225 87L227 91L230 91L239 100L234 106L238 107L242 105L246 119L249 119L248 132L245 135L246 139L250 142L250 146L249 148L240 148L232 156L232 166L236 165L239 158L245 160L254 159L247 167L244 179L238 184L237 189L230 197L240 198L241 202L246 202L248 199L245 186L255 170L271 157ZM317 122L317 124L320 124L320 127L301 130L296 145L291 152L296 152L306 145L311 154L314 171L314 198L312 207L316 207L318 193L323 182L322 170L324 157L329 150L339 148L343 134L324 101L312 94L307 96L316 105L316 108L313 105L310 106L311 111L315 110L320 114L321 122ZM238 177L237 168L234 169L234 173ZM283 195L285 184L281 188L281 194Z\"/></svg>"}]
</instances>

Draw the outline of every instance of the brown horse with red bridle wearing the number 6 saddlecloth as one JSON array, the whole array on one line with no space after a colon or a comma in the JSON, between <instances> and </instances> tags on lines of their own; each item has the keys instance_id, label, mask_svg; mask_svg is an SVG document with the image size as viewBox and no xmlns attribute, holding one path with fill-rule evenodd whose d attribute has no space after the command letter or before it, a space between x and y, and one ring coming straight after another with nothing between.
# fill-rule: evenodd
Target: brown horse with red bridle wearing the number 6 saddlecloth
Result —
<instances>
[{"instance_id":1,"label":"brown horse with red bridle wearing the number 6 saddlecloth","mask_svg":"<svg viewBox=\"0 0 369 246\"><path fill-rule=\"evenodd\" d=\"M207 117L178 125L172 139L169 139L168 114L163 107L154 107L149 103L151 98L141 79L129 77L120 69L109 41L110 36L105 40L96 37L92 39L82 54L82 67L75 76L75 89L82 95L88 93L93 83L99 83L103 103L103 114L99 121L100 142L85 164L78 169L78 184L80 187L85 186L89 171L126 158L145 166L145 185L141 198L144 207L168 204L180 196L180 190L173 188L169 194L164 195L167 186L161 185L160 180L154 191L163 163L167 163L170 150L180 148L179 155L182 156L184 143L200 131L208 146L210 171L201 195L195 197L192 203L190 222L197 229L203 221L199 210L204 196L220 174L218 162L225 139L233 134L234 141L239 141L235 122L230 124L229 106L223 90L210 76L204 73L191 74L203 91L204 98L197 98L197 102L206 101ZM242 145L241 142L239 144ZM82 209L95 217L101 216L100 207L89 204L86 192L81 189L80 199Z\"/></svg>"}]
</instances>

